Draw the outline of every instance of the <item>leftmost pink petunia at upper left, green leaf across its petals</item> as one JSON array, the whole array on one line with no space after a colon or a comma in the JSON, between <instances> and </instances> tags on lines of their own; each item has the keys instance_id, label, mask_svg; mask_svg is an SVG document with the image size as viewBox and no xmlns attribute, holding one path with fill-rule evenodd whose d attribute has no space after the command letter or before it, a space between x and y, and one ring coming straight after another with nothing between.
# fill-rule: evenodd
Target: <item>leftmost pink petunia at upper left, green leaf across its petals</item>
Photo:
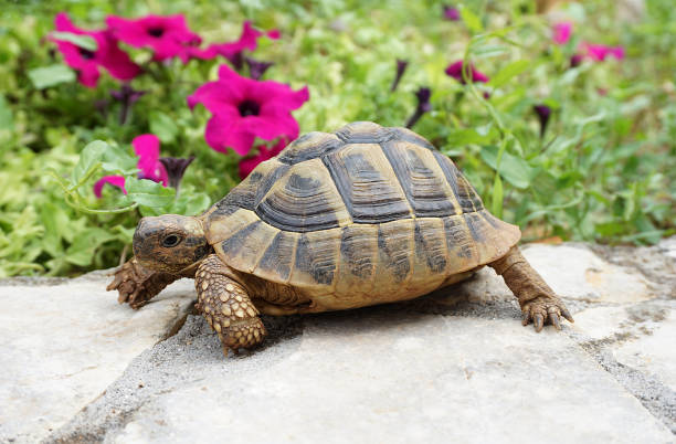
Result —
<instances>
[{"instance_id":1,"label":"leftmost pink petunia at upper left, green leaf across its petals","mask_svg":"<svg viewBox=\"0 0 676 444\"><path fill-rule=\"evenodd\" d=\"M96 41L96 51L89 51L74 43L50 36L50 40L56 43L68 66L77 71L77 80L84 86L96 86L101 75L99 66L105 67L113 77L120 81L131 80L140 72L127 53L117 46L117 41L109 32L82 30L73 24L65 12L56 14L54 25L56 31L88 35Z\"/></svg>"}]
</instances>

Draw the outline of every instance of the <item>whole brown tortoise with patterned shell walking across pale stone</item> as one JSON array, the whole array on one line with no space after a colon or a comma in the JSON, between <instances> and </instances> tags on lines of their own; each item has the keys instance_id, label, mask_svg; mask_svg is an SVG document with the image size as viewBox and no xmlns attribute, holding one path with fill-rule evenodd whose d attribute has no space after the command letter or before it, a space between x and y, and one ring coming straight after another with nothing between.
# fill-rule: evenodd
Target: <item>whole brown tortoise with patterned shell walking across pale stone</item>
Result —
<instances>
[{"instance_id":1,"label":"whole brown tortoise with patterned shell walking across pale stone","mask_svg":"<svg viewBox=\"0 0 676 444\"><path fill-rule=\"evenodd\" d=\"M489 265L517 296L524 325L561 329L561 316L573 319L519 239L423 137L358 121L302 136L199 216L142 218L134 257L108 290L139 308L194 278L196 306L228 353L264 340L261 313L412 299Z\"/></svg>"}]
</instances>

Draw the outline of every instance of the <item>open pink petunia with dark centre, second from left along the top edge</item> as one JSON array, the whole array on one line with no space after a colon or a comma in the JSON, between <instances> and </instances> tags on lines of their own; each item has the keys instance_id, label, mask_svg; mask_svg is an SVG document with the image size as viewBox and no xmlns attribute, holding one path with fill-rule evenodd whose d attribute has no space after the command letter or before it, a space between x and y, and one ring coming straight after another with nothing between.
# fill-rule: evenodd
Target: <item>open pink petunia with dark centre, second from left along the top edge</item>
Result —
<instances>
[{"instance_id":1,"label":"open pink petunia with dark centre, second from left along the top edge","mask_svg":"<svg viewBox=\"0 0 676 444\"><path fill-rule=\"evenodd\" d=\"M146 15L124 19L109 15L106 23L117 39L134 47L152 47L154 59L180 56L186 46L199 45L202 39L190 31L183 15Z\"/></svg>"}]
</instances>

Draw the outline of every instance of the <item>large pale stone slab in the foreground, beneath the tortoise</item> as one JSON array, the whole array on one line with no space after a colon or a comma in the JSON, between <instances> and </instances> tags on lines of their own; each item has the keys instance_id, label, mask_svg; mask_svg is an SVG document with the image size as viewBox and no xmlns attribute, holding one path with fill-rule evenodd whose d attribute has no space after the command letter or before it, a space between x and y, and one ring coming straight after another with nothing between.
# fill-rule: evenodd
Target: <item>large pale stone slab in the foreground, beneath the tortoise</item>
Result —
<instances>
[{"instance_id":1,"label":"large pale stone slab in the foreground, beneath the tortoise","mask_svg":"<svg viewBox=\"0 0 676 444\"><path fill-rule=\"evenodd\" d=\"M304 324L281 359L270 355L284 347L222 362L213 349L193 355L200 374L145 400L105 442L673 441L564 332L383 308ZM95 411L119 402L103 401Z\"/></svg>"}]
</instances>

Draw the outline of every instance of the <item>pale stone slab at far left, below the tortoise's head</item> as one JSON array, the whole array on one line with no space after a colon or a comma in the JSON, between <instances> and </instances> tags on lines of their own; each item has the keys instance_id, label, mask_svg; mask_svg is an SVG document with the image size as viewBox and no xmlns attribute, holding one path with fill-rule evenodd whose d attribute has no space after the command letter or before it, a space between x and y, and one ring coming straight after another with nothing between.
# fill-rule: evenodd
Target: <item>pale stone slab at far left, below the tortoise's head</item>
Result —
<instances>
[{"instance_id":1,"label":"pale stone slab at far left, below the tortoise's head","mask_svg":"<svg viewBox=\"0 0 676 444\"><path fill-rule=\"evenodd\" d=\"M0 286L0 442L35 442L63 425L178 327L194 292L186 279L134 311L106 281Z\"/></svg>"}]
</instances>

